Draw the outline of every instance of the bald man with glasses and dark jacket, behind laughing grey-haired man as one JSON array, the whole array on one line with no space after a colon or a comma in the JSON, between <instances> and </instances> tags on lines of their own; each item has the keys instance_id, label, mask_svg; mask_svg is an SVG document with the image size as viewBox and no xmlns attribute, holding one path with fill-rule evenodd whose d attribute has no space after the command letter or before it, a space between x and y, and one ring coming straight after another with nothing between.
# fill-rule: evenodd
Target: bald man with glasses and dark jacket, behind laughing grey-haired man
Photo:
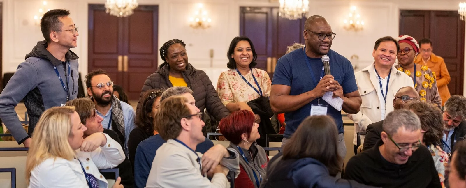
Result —
<instances>
[{"instance_id":1,"label":"bald man with glasses and dark jacket, behind laughing grey-haired man","mask_svg":"<svg viewBox=\"0 0 466 188\"><path fill-rule=\"evenodd\" d=\"M402 109L408 101L419 101L419 94L413 87L401 87L393 99L393 109ZM371 123L367 126L366 136L364 138L363 150L373 148L377 141L380 140L382 133L382 124L384 120Z\"/></svg>"}]
</instances>

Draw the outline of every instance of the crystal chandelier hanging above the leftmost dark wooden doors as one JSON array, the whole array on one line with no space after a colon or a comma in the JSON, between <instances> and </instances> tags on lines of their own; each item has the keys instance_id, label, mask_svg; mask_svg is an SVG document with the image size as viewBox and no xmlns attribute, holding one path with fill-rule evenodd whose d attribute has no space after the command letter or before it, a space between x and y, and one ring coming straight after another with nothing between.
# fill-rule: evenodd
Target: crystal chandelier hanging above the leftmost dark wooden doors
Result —
<instances>
[{"instance_id":1,"label":"crystal chandelier hanging above the leftmost dark wooden doors","mask_svg":"<svg viewBox=\"0 0 466 188\"><path fill-rule=\"evenodd\" d=\"M128 17L137 6L136 0L107 0L105 12L117 17Z\"/></svg>"}]
</instances>

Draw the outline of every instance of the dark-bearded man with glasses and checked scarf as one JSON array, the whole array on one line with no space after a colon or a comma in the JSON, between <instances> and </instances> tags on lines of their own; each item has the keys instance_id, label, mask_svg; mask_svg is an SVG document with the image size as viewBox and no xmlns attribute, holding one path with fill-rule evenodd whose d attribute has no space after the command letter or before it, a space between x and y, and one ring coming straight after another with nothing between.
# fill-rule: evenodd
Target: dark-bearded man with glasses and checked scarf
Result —
<instances>
[{"instance_id":1,"label":"dark-bearded man with glasses and checked scarf","mask_svg":"<svg viewBox=\"0 0 466 188\"><path fill-rule=\"evenodd\" d=\"M93 70L85 76L84 82L89 97L96 104L97 114L103 118L103 128L117 132L128 155L128 139L134 128L134 108L113 95L113 81L104 70Z\"/></svg>"}]
</instances>

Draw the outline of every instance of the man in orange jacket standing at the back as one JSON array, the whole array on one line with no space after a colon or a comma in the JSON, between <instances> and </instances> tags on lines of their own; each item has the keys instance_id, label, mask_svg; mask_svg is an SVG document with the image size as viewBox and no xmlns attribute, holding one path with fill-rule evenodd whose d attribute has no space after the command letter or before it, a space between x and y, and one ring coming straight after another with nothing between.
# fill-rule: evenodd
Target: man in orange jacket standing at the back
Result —
<instances>
[{"instance_id":1,"label":"man in orange jacket standing at the back","mask_svg":"<svg viewBox=\"0 0 466 188\"><path fill-rule=\"evenodd\" d=\"M419 46L420 53L414 59L414 62L420 65L427 65L432 70L433 76L437 80L437 87L439 88L443 107L445 101L451 96L447 86L450 83L450 74L446 68L445 61L442 57L432 53L432 41L430 39L424 38L419 40Z\"/></svg>"}]
</instances>

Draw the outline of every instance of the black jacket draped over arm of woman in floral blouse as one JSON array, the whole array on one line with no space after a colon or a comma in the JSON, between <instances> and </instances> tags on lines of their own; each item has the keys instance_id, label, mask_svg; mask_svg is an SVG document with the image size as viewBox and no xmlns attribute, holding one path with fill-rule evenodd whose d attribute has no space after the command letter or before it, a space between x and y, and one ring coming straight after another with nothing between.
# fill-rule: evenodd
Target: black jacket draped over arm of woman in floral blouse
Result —
<instances>
[{"instance_id":1,"label":"black jacket draped over arm of woman in floral blouse","mask_svg":"<svg viewBox=\"0 0 466 188\"><path fill-rule=\"evenodd\" d=\"M247 102L247 105L253 109L254 114L260 116L258 128L260 138L257 139L257 144L266 147L266 135L277 134L270 121L270 118L274 116L274 112L272 112L272 108L270 107L270 100L267 97L259 97Z\"/></svg>"}]
</instances>

